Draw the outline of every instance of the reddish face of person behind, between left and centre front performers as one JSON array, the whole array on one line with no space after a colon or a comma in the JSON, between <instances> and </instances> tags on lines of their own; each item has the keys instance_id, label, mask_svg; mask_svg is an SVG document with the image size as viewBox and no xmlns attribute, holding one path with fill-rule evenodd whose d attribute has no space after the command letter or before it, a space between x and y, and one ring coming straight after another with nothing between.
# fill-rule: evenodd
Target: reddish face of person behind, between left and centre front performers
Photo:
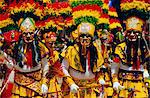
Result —
<instances>
[{"instance_id":1,"label":"reddish face of person behind, between left and centre front performers","mask_svg":"<svg viewBox=\"0 0 150 98\"><path fill-rule=\"evenodd\" d=\"M51 49L51 48L55 48L55 43L56 43L56 34L54 32L49 32L49 33L45 33L43 35L43 38L45 40L45 45Z\"/></svg>"}]
</instances>

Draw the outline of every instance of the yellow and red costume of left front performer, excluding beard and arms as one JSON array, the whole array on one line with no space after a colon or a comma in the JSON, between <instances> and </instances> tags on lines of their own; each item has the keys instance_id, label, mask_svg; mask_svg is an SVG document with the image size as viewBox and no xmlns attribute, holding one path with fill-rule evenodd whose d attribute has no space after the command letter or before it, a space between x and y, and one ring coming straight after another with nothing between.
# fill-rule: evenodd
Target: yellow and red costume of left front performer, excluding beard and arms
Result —
<instances>
[{"instance_id":1,"label":"yellow and red costume of left front performer, excluding beard and arms","mask_svg":"<svg viewBox=\"0 0 150 98\"><path fill-rule=\"evenodd\" d=\"M41 51L41 56L47 53L46 47L39 42L39 47ZM27 68L34 68L34 66L42 66L42 65L34 65L33 63L33 56L30 49L26 49L24 53L26 59ZM40 63L39 63L40 64ZM24 69L23 69L24 70ZM42 68L38 68L37 70L30 71L30 72L15 72L15 84L13 87L13 96L12 98L42 98L41 93L41 84L42 84Z\"/></svg>"}]
</instances>

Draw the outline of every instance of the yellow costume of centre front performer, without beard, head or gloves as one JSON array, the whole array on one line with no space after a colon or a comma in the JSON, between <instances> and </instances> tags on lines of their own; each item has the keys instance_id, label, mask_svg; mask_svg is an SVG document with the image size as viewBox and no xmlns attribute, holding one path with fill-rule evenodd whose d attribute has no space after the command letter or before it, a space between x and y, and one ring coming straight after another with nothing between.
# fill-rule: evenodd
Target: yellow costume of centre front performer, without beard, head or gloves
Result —
<instances>
[{"instance_id":1,"label":"yellow costume of centre front performer, without beard, head or gloves","mask_svg":"<svg viewBox=\"0 0 150 98\"><path fill-rule=\"evenodd\" d=\"M64 60L62 62L63 72L65 74L63 93L65 98L96 98L96 94L100 93L100 84L98 80L101 78L99 75L99 68L103 64L104 60L102 55L96 47L97 51L97 63L94 63L93 68L88 67L88 75L86 75L86 70L80 63L79 57L79 46L75 44L74 46L69 46L65 52ZM94 54L94 53L93 53ZM88 63L88 58L86 59L86 64ZM80 87L78 94L69 93L69 89L67 87L71 84L77 84Z\"/></svg>"}]
</instances>

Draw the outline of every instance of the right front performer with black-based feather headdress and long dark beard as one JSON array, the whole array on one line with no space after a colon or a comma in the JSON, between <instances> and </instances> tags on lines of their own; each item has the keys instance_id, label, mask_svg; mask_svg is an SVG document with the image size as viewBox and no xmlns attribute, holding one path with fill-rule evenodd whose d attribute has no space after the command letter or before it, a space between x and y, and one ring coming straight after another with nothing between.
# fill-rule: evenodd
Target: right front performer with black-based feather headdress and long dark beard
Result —
<instances>
[{"instance_id":1,"label":"right front performer with black-based feather headdress and long dark beard","mask_svg":"<svg viewBox=\"0 0 150 98\"><path fill-rule=\"evenodd\" d=\"M149 58L149 47L145 43L144 25L149 18L149 3L147 0L121 0L121 18L125 24L125 42L115 48L116 58L112 68L113 82L116 89L120 84L125 90L120 91L119 97L148 97L143 79L149 77L145 65ZM117 65L118 64L118 65ZM116 67L115 67L116 66ZM119 69L118 78L115 75Z\"/></svg>"}]
</instances>

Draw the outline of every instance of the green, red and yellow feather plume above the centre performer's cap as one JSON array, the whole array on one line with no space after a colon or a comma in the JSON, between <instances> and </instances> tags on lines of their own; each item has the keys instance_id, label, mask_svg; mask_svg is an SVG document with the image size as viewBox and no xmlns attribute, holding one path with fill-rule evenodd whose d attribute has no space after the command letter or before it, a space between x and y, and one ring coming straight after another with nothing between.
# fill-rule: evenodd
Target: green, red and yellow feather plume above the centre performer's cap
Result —
<instances>
[{"instance_id":1,"label":"green, red and yellow feather plume above the centre performer's cap","mask_svg":"<svg viewBox=\"0 0 150 98\"><path fill-rule=\"evenodd\" d=\"M73 15L73 22L79 25L82 22L89 22L93 25L99 23L99 18L102 14L101 0L70 0Z\"/></svg>"}]
</instances>

